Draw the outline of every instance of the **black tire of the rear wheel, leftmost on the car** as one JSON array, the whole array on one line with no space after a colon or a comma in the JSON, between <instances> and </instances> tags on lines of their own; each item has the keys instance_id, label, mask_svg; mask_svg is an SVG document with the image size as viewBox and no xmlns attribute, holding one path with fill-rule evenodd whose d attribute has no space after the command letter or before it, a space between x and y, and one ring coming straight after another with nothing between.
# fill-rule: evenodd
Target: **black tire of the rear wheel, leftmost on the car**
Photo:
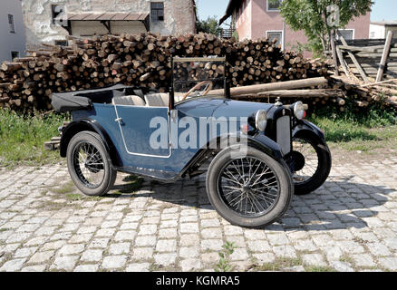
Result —
<instances>
[{"instance_id":1,"label":"black tire of the rear wheel, leftmost on the car","mask_svg":"<svg viewBox=\"0 0 397 290\"><path fill-rule=\"evenodd\" d=\"M86 151L89 153L87 154ZM81 153L87 155L83 168L80 163ZM113 187L117 171L113 168L109 152L105 149L103 141L97 133L82 131L74 135L68 144L66 159L73 183L83 194L103 196ZM96 163L90 163L92 160ZM92 183L87 178L87 175L90 174L101 174L98 176L97 183Z\"/></svg>"}]
</instances>

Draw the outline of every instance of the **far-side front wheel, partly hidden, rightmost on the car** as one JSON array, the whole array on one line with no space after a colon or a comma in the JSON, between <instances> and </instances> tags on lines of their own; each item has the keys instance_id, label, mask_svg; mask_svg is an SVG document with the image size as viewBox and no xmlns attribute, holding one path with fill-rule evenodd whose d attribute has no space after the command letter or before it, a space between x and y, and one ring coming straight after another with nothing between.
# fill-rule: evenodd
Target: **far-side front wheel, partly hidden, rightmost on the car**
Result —
<instances>
[{"instance_id":1,"label":"far-side front wheel, partly hidden, rightmost on the car","mask_svg":"<svg viewBox=\"0 0 397 290\"><path fill-rule=\"evenodd\" d=\"M319 138L311 135L293 138L290 167L296 195L306 195L321 187L331 171L331 153Z\"/></svg>"}]
</instances>

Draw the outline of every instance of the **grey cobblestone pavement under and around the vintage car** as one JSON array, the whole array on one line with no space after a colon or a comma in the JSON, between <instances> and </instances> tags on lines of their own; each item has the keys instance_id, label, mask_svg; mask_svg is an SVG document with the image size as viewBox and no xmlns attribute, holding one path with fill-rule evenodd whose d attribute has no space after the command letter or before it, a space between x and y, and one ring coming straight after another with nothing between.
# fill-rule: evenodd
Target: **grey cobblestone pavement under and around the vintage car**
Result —
<instances>
[{"instance_id":1,"label":"grey cobblestone pavement under and around the vintage car","mask_svg":"<svg viewBox=\"0 0 397 290\"><path fill-rule=\"evenodd\" d=\"M65 165L0 169L0 271L212 271L226 242L239 271L396 271L397 157L349 155L261 230L220 218L203 178L133 192L119 174L90 198Z\"/></svg>"}]
</instances>

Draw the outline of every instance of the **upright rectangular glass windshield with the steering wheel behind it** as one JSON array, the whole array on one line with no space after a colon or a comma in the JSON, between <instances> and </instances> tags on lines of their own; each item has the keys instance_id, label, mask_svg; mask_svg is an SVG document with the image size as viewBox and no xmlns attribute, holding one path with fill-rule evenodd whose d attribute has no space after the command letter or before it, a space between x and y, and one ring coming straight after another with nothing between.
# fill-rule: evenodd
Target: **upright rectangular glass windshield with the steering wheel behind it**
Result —
<instances>
[{"instance_id":1,"label":"upright rectangular glass windshield with the steering wheel behind it","mask_svg":"<svg viewBox=\"0 0 397 290\"><path fill-rule=\"evenodd\" d=\"M174 58L175 102L206 95L225 97L225 58Z\"/></svg>"}]
</instances>

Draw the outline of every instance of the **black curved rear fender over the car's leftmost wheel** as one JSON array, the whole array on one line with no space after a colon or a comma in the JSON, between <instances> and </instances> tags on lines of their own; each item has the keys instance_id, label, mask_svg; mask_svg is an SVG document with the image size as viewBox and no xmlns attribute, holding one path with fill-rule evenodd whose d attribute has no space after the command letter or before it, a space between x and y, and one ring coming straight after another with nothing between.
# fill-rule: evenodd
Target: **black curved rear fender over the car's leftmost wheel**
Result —
<instances>
[{"instance_id":1,"label":"black curved rear fender over the car's leftmost wheel","mask_svg":"<svg viewBox=\"0 0 397 290\"><path fill-rule=\"evenodd\" d=\"M74 135L76 135L81 131L92 131L98 133L101 136L105 149L111 155L111 162L113 166L116 167L122 166L120 155L117 152L108 133L103 129L100 123L89 118L72 121L71 123L69 123L68 126L66 126L66 128L63 129L61 144L60 144L61 157L66 157L66 152L70 140L72 140Z\"/></svg>"}]
</instances>

